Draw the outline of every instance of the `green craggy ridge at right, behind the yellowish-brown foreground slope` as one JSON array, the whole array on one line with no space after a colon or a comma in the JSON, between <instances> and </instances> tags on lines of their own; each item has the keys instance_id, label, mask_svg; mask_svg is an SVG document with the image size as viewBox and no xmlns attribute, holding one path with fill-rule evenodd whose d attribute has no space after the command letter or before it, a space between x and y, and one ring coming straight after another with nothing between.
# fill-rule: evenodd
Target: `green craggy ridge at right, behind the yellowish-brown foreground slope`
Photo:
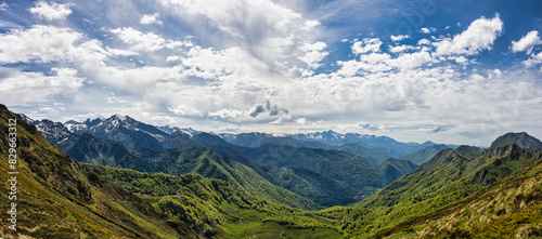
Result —
<instances>
[{"instance_id":1,"label":"green craggy ridge at right, behind the yellowish-brown foreground slope","mask_svg":"<svg viewBox=\"0 0 542 239\"><path fill-rule=\"evenodd\" d=\"M367 237L413 216L453 204L532 164L537 157L516 145L489 149L477 158L466 157L461 149L447 149L358 203L371 213L352 223L351 236Z\"/></svg>"}]
</instances>

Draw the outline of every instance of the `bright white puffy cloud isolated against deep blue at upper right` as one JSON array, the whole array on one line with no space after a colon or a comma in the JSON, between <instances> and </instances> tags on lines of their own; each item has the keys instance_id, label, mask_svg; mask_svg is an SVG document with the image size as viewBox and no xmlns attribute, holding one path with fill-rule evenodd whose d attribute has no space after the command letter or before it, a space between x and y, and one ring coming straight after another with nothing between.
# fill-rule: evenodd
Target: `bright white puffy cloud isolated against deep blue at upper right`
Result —
<instances>
[{"instance_id":1,"label":"bright white puffy cloud isolated against deep blue at upper right","mask_svg":"<svg viewBox=\"0 0 542 239\"><path fill-rule=\"evenodd\" d=\"M438 55L474 55L483 50L491 50L491 45L502 30L503 22L499 14L491 19L486 17L475 19L465 31L454 36L453 39L438 42L436 53Z\"/></svg>"}]
</instances>

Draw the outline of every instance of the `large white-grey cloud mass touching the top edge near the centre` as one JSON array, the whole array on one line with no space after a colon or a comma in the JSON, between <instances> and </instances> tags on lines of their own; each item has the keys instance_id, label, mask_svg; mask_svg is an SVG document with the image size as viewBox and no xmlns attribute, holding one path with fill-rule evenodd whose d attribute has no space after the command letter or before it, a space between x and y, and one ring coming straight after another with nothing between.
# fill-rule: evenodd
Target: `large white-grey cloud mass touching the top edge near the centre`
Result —
<instances>
[{"instance_id":1,"label":"large white-grey cloud mass touching the top edge near the centre","mask_svg":"<svg viewBox=\"0 0 542 239\"><path fill-rule=\"evenodd\" d=\"M205 22L217 45L236 45L271 70L309 76L327 53L315 38L320 23L271 0L159 0L189 23ZM243 13L240 15L240 13ZM212 41L212 38L208 38ZM220 49L219 50L224 50ZM308 66L308 67L307 67Z\"/></svg>"}]
</instances>

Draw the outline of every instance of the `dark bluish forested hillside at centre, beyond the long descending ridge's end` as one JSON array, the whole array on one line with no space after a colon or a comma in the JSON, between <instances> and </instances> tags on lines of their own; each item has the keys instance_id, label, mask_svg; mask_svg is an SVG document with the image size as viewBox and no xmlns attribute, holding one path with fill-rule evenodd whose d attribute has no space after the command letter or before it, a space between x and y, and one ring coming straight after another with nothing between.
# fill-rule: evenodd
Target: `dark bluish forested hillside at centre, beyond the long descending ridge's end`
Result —
<instances>
[{"instance_id":1,"label":"dark bluish forested hillside at centre, beyond the long descending ridge's end","mask_svg":"<svg viewBox=\"0 0 542 239\"><path fill-rule=\"evenodd\" d=\"M244 152L262 167L278 168L268 174L279 186L326 207L353 203L391 182L373 162L339 150L268 144Z\"/></svg>"}]
</instances>

